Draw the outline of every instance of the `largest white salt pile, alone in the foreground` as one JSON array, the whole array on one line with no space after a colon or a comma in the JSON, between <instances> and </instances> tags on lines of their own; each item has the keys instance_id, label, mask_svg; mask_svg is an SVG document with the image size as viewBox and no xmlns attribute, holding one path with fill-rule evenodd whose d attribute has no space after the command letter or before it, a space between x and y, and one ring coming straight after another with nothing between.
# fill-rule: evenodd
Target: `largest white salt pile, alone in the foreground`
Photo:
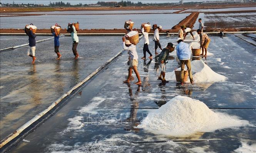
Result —
<instances>
[{"instance_id":1,"label":"largest white salt pile, alone in the foreground","mask_svg":"<svg viewBox=\"0 0 256 153\"><path fill-rule=\"evenodd\" d=\"M157 110L152 110L138 128L162 135L181 137L195 132L213 132L228 127L250 125L236 116L213 112L203 102L176 96Z\"/></svg>"}]
</instances>

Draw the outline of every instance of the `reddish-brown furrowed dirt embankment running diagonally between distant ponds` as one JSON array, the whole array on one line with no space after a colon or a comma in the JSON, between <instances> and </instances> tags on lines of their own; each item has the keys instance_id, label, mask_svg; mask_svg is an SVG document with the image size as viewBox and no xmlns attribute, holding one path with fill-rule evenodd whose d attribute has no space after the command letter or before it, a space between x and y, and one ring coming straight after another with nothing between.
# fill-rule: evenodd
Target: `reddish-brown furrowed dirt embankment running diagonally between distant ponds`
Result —
<instances>
[{"instance_id":1,"label":"reddish-brown furrowed dirt embankment running diagonally between distant ponds","mask_svg":"<svg viewBox=\"0 0 256 153\"><path fill-rule=\"evenodd\" d=\"M185 25L186 27L193 28L194 24L196 23L197 17L199 15L199 12L193 12L183 20L181 20L177 25L173 26L172 29L180 29L182 25Z\"/></svg>"}]
</instances>

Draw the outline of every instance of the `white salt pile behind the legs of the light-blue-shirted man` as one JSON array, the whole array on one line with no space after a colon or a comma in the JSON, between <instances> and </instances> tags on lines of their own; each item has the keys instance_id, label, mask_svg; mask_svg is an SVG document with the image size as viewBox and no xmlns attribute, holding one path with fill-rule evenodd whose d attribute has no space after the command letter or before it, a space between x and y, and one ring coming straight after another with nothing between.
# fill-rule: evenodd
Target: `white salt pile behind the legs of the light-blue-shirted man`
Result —
<instances>
[{"instance_id":1,"label":"white salt pile behind the legs of the light-blue-shirted man","mask_svg":"<svg viewBox=\"0 0 256 153\"><path fill-rule=\"evenodd\" d=\"M181 71L181 68L177 70ZM185 70L187 70L186 66L185 66ZM212 71L212 69L201 60L192 61L191 70L193 74L194 83L220 82L220 81L226 81L227 79L227 77ZM167 72L165 78L170 81L176 80L175 72L174 71ZM189 82L189 79L187 80L187 82Z\"/></svg>"}]
</instances>

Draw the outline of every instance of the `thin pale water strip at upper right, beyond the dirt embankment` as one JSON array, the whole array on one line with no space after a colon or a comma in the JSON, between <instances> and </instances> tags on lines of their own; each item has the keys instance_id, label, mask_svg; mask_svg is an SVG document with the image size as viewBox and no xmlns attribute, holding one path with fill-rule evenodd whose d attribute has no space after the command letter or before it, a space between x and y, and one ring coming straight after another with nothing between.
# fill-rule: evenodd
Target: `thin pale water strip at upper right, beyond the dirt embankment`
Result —
<instances>
[{"instance_id":1,"label":"thin pale water strip at upper right, beyond the dirt embankment","mask_svg":"<svg viewBox=\"0 0 256 153\"><path fill-rule=\"evenodd\" d=\"M210 8L210 9L188 9L186 12L218 12L218 11L247 11L255 10L256 7L234 7L234 8Z\"/></svg>"}]
</instances>

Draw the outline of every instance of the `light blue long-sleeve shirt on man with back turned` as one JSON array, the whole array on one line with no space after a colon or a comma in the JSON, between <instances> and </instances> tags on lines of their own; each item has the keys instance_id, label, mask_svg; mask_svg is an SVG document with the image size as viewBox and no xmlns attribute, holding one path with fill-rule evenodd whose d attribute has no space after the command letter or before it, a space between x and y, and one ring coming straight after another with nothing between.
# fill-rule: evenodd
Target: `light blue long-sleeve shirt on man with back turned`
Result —
<instances>
[{"instance_id":1,"label":"light blue long-sleeve shirt on man with back turned","mask_svg":"<svg viewBox=\"0 0 256 153\"><path fill-rule=\"evenodd\" d=\"M177 45L176 51L177 51L177 56L179 60L188 60L191 58L191 52L189 49L189 45L187 43L184 43L181 41Z\"/></svg>"}]
</instances>

